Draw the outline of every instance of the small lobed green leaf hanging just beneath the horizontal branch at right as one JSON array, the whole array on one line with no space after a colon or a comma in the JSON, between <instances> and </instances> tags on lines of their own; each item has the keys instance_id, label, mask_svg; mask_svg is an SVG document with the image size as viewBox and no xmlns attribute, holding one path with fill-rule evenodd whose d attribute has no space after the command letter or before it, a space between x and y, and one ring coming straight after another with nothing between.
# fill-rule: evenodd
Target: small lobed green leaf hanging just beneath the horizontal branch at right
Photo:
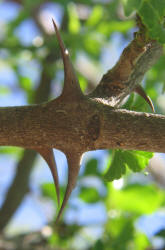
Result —
<instances>
[{"instance_id":1,"label":"small lobed green leaf hanging just beneath the horizontal branch at right","mask_svg":"<svg viewBox=\"0 0 165 250\"><path fill-rule=\"evenodd\" d=\"M143 151L122 151L116 150L114 152L112 163L104 175L106 181L113 181L120 179L126 173L126 167L133 172L143 170L152 158L153 153Z\"/></svg>"}]
</instances>

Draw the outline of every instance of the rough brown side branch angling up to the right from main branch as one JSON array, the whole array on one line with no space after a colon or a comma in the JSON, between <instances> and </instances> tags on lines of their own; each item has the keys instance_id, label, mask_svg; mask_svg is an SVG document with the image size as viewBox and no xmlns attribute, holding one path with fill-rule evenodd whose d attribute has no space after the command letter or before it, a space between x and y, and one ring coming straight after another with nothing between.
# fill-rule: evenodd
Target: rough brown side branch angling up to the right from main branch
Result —
<instances>
[{"instance_id":1,"label":"rough brown side branch angling up to the right from main branch","mask_svg":"<svg viewBox=\"0 0 165 250\"><path fill-rule=\"evenodd\" d=\"M162 45L151 40L137 17L139 31L124 49L119 61L103 75L96 89L89 96L102 97L109 105L118 107L122 100L135 90L145 73L163 53Z\"/></svg>"}]
</instances>

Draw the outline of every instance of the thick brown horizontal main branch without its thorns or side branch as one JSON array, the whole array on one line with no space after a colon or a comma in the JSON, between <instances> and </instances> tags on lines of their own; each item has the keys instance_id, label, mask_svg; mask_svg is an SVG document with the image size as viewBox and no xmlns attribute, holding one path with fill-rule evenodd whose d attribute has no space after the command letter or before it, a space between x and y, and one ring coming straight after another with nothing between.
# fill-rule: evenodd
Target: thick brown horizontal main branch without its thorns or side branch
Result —
<instances>
[{"instance_id":1,"label":"thick brown horizontal main branch without its thorns or side branch","mask_svg":"<svg viewBox=\"0 0 165 250\"><path fill-rule=\"evenodd\" d=\"M0 145L165 152L165 116L113 109L95 99L1 108L0 117Z\"/></svg>"}]
</instances>

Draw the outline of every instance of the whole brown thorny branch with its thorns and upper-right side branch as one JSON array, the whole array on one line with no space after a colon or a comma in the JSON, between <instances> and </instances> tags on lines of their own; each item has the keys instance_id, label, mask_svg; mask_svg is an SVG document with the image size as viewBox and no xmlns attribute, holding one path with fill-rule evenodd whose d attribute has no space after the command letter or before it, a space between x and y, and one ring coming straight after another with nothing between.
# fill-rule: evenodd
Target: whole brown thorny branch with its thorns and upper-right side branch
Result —
<instances>
[{"instance_id":1,"label":"whole brown thorny branch with its thorns and upper-right side branch","mask_svg":"<svg viewBox=\"0 0 165 250\"><path fill-rule=\"evenodd\" d=\"M53 175L59 205L60 188L52 149L65 153L68 184L57 222L76 185L84 152L109 148L165 152L165 116L117 108L125 96L136 91L153 109L139 83L161 55L162 47L146 37L143 25L139 25L139 32L118 63L87 96L81 92L54 21L53 25L64 63L63 92L47 103L0 108L0 145L34 149L43 156Z\"/></svg>"}]
</instances>

